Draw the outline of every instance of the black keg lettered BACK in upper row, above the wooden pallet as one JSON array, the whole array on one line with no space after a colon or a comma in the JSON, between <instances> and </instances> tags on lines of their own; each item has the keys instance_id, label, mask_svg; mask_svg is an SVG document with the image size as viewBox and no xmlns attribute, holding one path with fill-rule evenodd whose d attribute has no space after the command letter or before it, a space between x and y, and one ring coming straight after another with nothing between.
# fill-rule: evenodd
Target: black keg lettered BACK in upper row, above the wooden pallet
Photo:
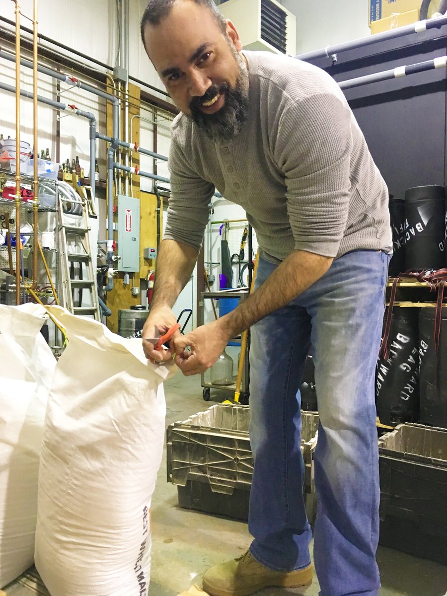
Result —
<instances>
[{"instance_id":1,"label":"black keg lettered BACK in upper row, above the wooden pallet","mask_svg":"<svg viewBox=\"0 0 447 596\"><path fill-rule=\"evenodd\" d=\"M409 188L405 191L405 270L442 269L444 248L445 188Z\"/></svg>"}]
</instances>

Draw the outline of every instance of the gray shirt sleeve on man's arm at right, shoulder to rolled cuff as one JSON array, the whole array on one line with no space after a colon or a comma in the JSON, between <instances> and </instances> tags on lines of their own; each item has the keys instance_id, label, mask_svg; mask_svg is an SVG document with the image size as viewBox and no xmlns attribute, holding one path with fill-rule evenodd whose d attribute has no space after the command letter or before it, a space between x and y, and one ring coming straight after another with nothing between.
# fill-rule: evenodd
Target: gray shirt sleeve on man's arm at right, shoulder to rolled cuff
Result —
<instances>
[{"instance_id":1,"label":"gray shirt sleeve on man's arm at right, shoulder to rolled cuff","mask_svg":"<svg viewBox=\"0 0 447 596\"><path fill-rule=\"evenodd\" d=\"M296 250L337 256L349 209L350 127L349 107L331 93L306 97L281 117L275 159Z\"/></svg>"}]
</instances>

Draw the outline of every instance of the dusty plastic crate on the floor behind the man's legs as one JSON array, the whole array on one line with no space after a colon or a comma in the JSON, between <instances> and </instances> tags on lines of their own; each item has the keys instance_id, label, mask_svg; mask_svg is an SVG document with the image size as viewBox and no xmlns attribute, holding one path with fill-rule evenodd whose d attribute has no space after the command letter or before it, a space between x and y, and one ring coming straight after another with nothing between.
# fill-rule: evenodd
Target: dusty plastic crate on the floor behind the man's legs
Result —
<instances>
[{"instance_id":1,"label":"dusty plastic crate on the floor behind the man's legs","mask_svg":"<svg viewBox=\"0 0 447 596\"><path fill-rule=\"evenodd\" d=\"M303 492L315 517L313 478L318 413L302 412ZM167 427L167 482L177 485L180 507L247 520L253 476L250 408L217 404Z\"/></svg>"}]
</instances>

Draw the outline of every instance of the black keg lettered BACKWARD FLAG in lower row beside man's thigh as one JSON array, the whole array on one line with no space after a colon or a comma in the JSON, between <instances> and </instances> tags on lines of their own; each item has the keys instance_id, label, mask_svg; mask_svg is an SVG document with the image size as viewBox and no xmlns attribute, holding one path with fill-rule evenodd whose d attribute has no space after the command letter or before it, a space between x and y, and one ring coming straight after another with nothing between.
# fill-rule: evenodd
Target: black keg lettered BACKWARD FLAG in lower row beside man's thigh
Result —
<instances>
[{"instance_id":1,"label":"black keg lettered BACKWARD FLAG in lower row beside man's thigh","mask_svg":"<svg viewBox=\"0 0 447 596\"><path fill-rule=\"evenodd\" d=\"M379 359L375 405L382 424L416 422L419 417L418 309L393 309L387 361Z\"/></svg>"}]
</instances>

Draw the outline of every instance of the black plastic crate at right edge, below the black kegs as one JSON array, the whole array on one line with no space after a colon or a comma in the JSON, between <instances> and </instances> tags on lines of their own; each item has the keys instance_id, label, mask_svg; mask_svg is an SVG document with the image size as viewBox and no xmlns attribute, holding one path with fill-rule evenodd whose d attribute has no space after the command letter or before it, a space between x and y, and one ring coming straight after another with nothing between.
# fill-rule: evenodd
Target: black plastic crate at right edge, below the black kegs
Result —
<instances>
[{"instance_id":1,"label":"black plastic crate at right edge, below the black kegs","mask_svg":"<svg viewBox=\"0 0 447 596\"><path fill-rule=\"evenodd\" d=\"M447 563L447 429L399 424L379 439L380 544Z\"/></svg>"}]
</instances>

